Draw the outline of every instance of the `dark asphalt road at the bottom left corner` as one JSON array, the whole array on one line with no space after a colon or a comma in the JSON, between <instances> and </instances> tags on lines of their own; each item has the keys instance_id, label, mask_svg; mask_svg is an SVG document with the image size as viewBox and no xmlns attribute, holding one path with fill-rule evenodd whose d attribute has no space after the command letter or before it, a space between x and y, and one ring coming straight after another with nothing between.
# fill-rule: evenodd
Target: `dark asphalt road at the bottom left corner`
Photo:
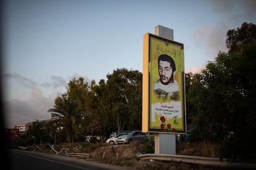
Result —
<instances>
[{"instance_id":1,"label":"dark asphalt road at the bottom left corner","mask_svg":"<svg viewBox=\"0 0 256 170\"><path fill-rule=\"evenodd\" d=\"M49 153L26 152L20 150L8 150L10 170L93 170L93 169L118 169L119 166L95 163L93 161L81 160L79 158L67 157L64 155L54 155Z\"/></svg>"}]
</instances>

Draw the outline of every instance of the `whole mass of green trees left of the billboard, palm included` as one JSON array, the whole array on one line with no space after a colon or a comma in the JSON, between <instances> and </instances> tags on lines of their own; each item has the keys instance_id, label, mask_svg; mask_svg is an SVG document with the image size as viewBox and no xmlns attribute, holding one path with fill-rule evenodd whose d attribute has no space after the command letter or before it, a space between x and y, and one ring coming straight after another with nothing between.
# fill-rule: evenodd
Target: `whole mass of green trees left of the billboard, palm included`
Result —
<instances>
[{"instance_id":1,"label":"whole mass of green trees left of the billboard, palm included","mask_svg":"<svg viewBox=\"0 0 256 170\"><path fill-rule=\"evenodd\" d=\"M114 70L107 78L106 83L101 79L99 84L92 81L90 85L83 78L72 79L67 93L57 97L54 108L48 110L62 119L67 141L79 142L92 134L109 136L116 130L141 129L142 74L123 68ZM54 133L51 134L48 138L52 140Z\"/></svg>"}]
</instances>

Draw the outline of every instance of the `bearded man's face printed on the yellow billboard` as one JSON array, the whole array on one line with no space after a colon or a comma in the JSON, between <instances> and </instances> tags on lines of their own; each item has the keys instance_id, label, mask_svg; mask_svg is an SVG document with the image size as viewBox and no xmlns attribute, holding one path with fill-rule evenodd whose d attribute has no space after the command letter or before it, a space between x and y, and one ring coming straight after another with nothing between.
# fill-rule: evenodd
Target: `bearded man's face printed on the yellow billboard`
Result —
<instances>
[{"instance_id":1,"label":"bearded man's face printed on the yellow billboard","mask_svg":"<svg viewBox=\"0 0 256 170\"><path fill-rule=\"evenodd\" d=\"M161 83L167 85L169 83L173 83L173 76L176 71L173 72L173 68L171 68L171 63L160 60L158 63L158 73L161 79Z\"/></svg>"}]
</instances>

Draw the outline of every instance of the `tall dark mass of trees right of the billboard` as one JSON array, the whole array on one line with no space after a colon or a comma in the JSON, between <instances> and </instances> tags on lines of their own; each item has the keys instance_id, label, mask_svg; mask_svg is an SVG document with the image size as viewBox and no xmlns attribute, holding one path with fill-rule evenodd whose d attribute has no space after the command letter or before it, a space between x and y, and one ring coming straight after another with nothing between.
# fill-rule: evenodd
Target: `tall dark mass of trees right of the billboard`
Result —
<instances>
[{"instance_id":1,"label":"tall dark mass of trees right of the billboard","mask_svg":"<svg viewBox=\"0 0 256 170\"><path fill-rule=\"evenodd\" d=\"M243 23L229 30L229 52L219 52L215 61L208 62L187 92L197 139L221 142L223 158L256 156L251 134L256 130L255 28Z\"/></svg>"}]
</instances>

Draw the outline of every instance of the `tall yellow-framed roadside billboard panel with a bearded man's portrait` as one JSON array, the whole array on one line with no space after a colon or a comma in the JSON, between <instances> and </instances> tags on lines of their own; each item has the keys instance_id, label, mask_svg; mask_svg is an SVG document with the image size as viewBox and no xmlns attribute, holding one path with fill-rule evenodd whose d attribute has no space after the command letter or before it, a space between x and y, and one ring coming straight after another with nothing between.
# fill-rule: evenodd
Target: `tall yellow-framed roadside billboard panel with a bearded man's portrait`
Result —
<instances>
[{"instance_id":1,"label":"tall yellow-framed roadside billboard panel with a bearded man's portrait","mask_svg":"<svg viewBox=\"0 0 256 170\"><path fill-rule=\"evenodd\" d=\"M186 134L184 45L143 36L142 131Z\"/></svg>"}]
</instances>

